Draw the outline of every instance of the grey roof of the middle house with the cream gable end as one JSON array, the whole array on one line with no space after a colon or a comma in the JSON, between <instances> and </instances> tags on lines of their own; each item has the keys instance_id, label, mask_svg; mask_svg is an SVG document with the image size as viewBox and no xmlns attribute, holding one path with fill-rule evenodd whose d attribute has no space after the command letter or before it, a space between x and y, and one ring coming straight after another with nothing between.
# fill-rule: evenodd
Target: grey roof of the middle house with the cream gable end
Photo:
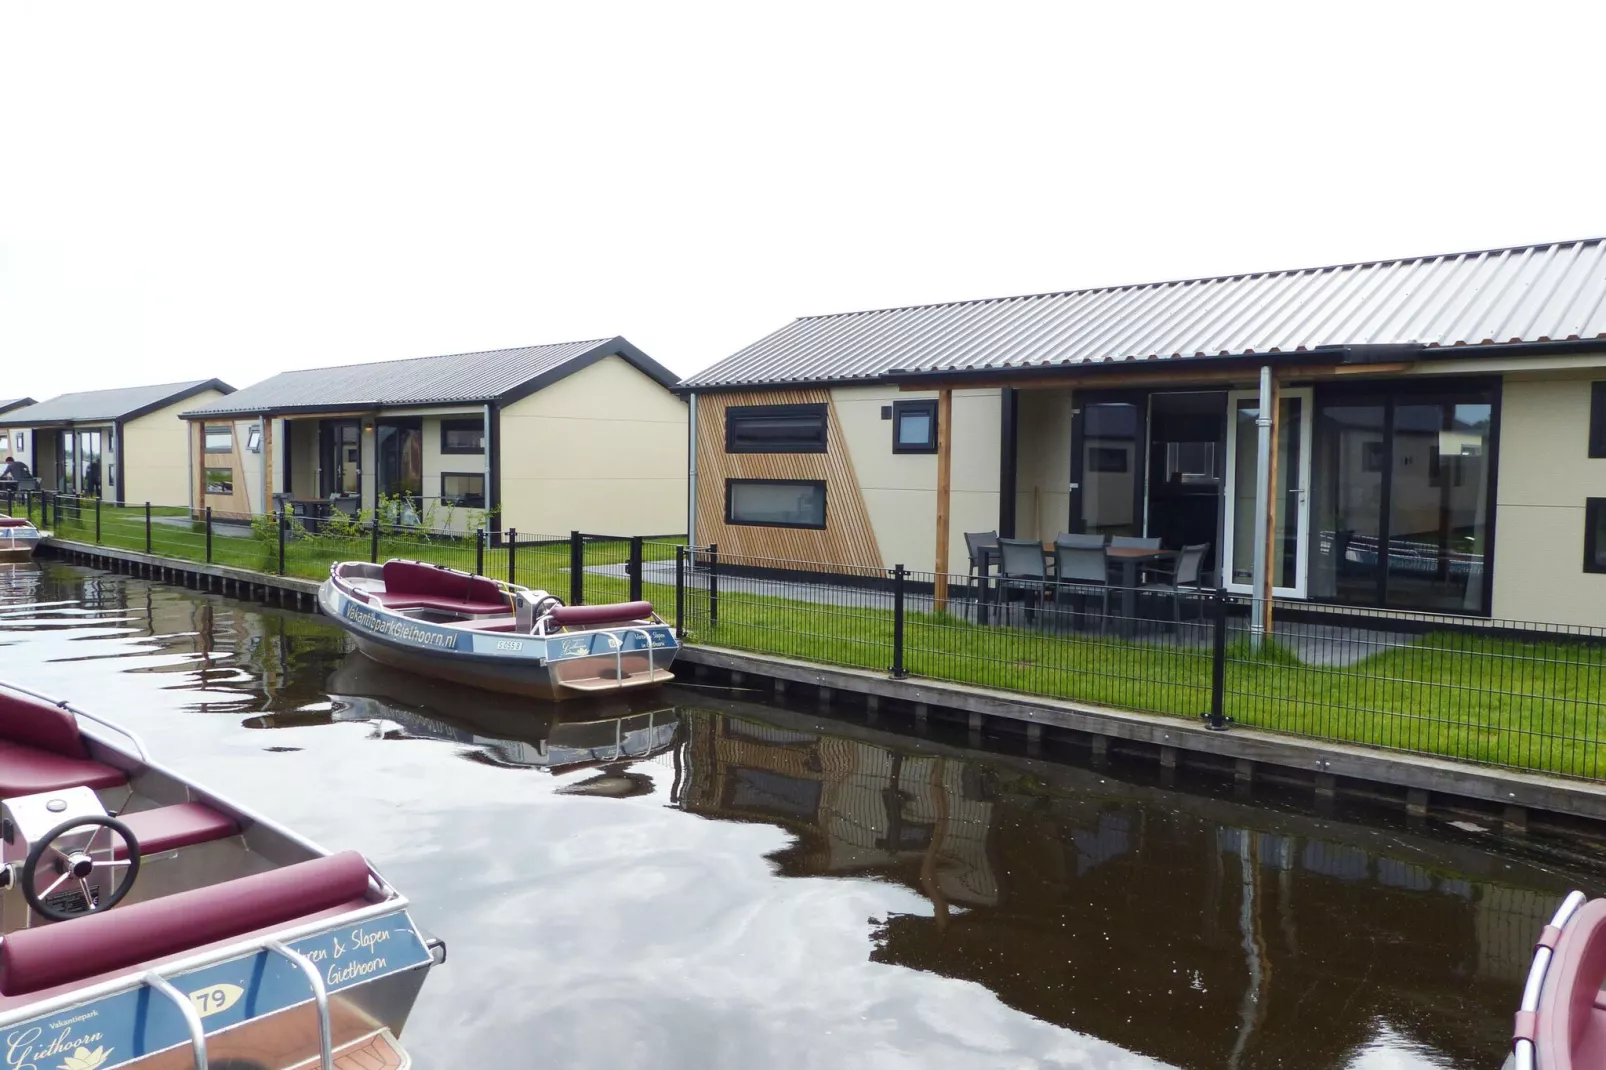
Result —
<instances>
[{"instance_id":1,"label":"grey roof of the middle house with the cream gable end","mask_svg":"<svg viewBox=\"0 0 1606 1070\"><path fill-rule=\"evenodd\" d=\"M665 386L675 384L675 376L646 353L612 337L281 371L185 416L495 402L533 379L564 374L570 361L607 353L625 357Z\"/></svg>"}]
</instances>

